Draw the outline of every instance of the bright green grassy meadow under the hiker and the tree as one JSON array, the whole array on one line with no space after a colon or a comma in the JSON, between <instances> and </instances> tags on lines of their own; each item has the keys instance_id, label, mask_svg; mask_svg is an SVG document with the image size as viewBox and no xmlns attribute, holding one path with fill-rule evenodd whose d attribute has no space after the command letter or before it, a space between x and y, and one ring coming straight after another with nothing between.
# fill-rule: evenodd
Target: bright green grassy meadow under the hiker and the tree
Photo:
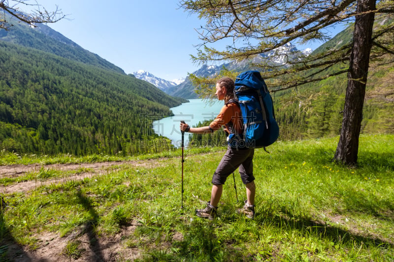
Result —
<instances>
[{"instance_id":1,"label":"bright green grassy meadow under the hiker and the tree","mask_svg":"<svg viewBox=\"0 0 394 262\"><path fill-rule=\"evenodd\" d=\"M43 232L66 238L80 231L94 244L134 225L122 241L125 254L140 251L137 261L394 261L394 136L361 136L357 168L331 162L337 141L277 142L270 154L257 149L255 220L235 212L246 198L239 175L238 203L229 177L218 217L194 215L209 200L212 174L224 153L200 148L185 150L183 209L180 150L141 155L167 159L158 167L125 165L106 175L5 195L0 238L36 249ZM63 255L83 252L75 240Z\"/></svg>"}]
</instances>

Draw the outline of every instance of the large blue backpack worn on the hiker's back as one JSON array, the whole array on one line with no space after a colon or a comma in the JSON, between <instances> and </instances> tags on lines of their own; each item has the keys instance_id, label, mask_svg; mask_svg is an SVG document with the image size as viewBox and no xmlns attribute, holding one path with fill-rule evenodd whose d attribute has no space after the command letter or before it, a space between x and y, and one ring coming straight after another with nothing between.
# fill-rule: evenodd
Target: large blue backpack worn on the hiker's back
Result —
<instances>
[{"instance_id":1,"label":"large blue backpack worn on the hiker's back","mask_svg":"<svg viewBox=\"0 0 394 262\"><path fill-rule=\"evenodd\" d=\"M235 80L235 95L241 108L244 132L230 134L228 143L236 148L260 148L274 143L279 136L272 97L259 71L246 71Z\"/></svg>"}]
</instances>

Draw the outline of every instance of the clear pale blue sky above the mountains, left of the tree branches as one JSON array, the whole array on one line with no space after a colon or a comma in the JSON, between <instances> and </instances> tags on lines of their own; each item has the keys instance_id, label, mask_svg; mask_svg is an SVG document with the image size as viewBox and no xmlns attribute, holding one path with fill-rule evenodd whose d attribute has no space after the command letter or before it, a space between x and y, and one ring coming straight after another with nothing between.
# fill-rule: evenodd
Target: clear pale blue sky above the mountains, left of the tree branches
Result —
<instances>
[{"instance_id":1,"label":"clear pale blue sky above the mountains, left of the tree branches","mask_svg":"<svg viewBox=\"0 0 394 262\"><path fill-rule=\"evenodd\" d=\"M33 1L31 1L33 2ZM49 27L127 74L145 70L173 80L199 68L190 55L199 44L197 15L178 8L178 0L37 0L48 11L56 5L68 19ZM21 6L22 7L22 6ZM333 34L337 33L333 30ZM320 44L298 47L316 49Z\"/></svg>"}]
</instances>

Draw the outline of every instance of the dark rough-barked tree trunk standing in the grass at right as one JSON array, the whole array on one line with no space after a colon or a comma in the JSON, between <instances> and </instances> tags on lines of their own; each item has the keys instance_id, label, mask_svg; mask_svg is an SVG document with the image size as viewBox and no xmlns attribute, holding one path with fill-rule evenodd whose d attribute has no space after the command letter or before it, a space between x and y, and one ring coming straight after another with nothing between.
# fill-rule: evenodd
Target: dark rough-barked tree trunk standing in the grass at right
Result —
<instances>
[{"instance_id":1,"label":"dark rough-barked tree trunk standing in the grass at right","mask_svg":"<svg viewBox=\"0 0 394 262\"><path fill-rule=\"evenodd\" d=\"M357 164L359 136L372 46L372 27L376 0L358 0L353 49L348 72L342 128L334 161L352 166ZM368 12L369 11L369 12Z\"/></svg>"}]
</instances>

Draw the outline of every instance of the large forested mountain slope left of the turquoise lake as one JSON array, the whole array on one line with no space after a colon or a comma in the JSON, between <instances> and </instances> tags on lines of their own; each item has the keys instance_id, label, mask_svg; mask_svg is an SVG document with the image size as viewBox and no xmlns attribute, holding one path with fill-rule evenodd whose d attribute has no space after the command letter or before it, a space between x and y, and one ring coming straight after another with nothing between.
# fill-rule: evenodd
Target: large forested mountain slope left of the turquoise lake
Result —
<instances>
[{"instance_id":1,"label":"large forested mountain slope left of the turquoise lake","mask_svg":"<svg viewBox=\"0 0 394 262\"><path fill-rule=\"evenodd\" d=\"M39 49L56 50L0 40L0 150L129 154L170 145L147 143L164 140L153 134L151 124L184 100L126 75L97 55L73 53L72 45L52 44L44 34L36 38L36 32L26 33L29 29L17 34L14 29L11 42L34 42L36 47L42 41ZM18 34L25 36L19 39ZM57 52L62 56L53 54Z\"/></svg>"}]
</instances>

